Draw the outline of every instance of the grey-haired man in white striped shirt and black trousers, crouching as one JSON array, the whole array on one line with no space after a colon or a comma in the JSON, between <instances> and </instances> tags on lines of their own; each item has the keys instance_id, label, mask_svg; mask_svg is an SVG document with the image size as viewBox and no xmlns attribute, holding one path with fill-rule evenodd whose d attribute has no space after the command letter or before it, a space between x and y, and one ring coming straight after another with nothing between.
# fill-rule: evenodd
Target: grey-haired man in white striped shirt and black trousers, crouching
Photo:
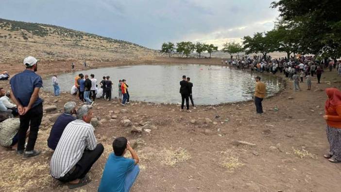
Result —
<instances>
[{"instance_id":1,"label":"grey-haired man in white striped shirt and black trousers, crouching","mask_svg":"<svg viewBox=\"0 0 341 192\"><path fill-rule=\"evenodd\" d=\"M91 181L86 174L104 150L101 143L96 144L91 108L83 105L77 110L77 120L68 123L51 157L52 177L68 183L70 189Z\"/></svg>"}]
</instances>

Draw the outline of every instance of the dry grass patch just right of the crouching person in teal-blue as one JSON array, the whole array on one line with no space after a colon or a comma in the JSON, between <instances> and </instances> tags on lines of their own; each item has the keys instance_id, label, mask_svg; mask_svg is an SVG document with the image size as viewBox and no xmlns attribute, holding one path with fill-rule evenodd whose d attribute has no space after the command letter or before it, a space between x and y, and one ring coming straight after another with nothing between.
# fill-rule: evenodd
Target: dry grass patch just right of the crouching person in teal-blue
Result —
<instances>
[{"instance_id":1,"label":"dry grass patch just right of the crouching person in teal-blue","mask_svg":"<svg viewBox=\"0 0 341 192\"><path fill-rule=\"evenodd\" d=\"M164 149L161 152L164 159L161 160L161 163L168 166L175 166L177 163L182 163L190 159L190 155L186 149L179 147L178 149Z\"/></svg>"}]
</instances>

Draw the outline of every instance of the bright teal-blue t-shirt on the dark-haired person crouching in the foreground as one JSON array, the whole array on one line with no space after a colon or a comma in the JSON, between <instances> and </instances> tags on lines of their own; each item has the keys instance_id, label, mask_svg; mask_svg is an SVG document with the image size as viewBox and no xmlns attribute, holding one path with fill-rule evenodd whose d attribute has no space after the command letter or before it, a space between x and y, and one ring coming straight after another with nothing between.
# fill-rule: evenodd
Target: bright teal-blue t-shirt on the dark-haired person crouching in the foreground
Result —
<instances>
[{"instance_id":1,"label":"bright teal-blue t-shirt on the dark-haired person crouching in the foreground","mask_svg":"<svg viewBox=\"0 0 341 192\"><path fill-rule=\"evenodd\" d=\"M133 170L134 166L134 159L111 153L104 166L98 192L124 192L125 177L129 171Z\"/></svg>"}]
</instances>

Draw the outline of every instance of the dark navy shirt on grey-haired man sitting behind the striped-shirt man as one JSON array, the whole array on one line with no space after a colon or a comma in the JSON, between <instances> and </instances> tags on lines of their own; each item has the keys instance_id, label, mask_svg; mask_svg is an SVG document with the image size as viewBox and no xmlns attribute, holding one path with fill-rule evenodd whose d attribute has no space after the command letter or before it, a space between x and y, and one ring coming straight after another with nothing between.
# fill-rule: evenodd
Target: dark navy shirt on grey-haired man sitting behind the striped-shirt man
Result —
<instances>
[{"instance_id":1,"label":"dark navy shirt on grey-haired man sitting behind the striped-shirt man","mask_svg":"<svg viewBox=\"0 0 341 192\"><path fill-rule=\"evenodd\" d=\"M57 118L56 122L54 122L51 128L50 136L48 139L48 146L50 147L50 149L53 149L53 150L56 149L57 144L60 140L60 137L62 137L65 127L68 125L69 122L72 122L75 120L76 118L66 113L61 114Z\"/></svg>"}]
</instances>

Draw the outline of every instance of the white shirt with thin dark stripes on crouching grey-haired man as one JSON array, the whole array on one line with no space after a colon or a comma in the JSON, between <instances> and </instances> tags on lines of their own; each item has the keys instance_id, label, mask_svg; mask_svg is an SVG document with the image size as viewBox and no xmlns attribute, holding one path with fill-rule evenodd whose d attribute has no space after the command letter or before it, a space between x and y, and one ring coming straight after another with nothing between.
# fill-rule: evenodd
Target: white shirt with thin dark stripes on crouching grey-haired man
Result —
<instances>
[{"instance_id":1,"label":"white shirt with thin dark stripes on crouching grey-haired man","mask_svg":"<svg viewBox=\"0 0 341 192\"><path fill-rule=\"evenodd\" d=\"M91 124L82 120L68 123L51 157L51 175L61 178L82 158L85 149L94 150L97 140Z\"/></svg>"}]
</instances>

